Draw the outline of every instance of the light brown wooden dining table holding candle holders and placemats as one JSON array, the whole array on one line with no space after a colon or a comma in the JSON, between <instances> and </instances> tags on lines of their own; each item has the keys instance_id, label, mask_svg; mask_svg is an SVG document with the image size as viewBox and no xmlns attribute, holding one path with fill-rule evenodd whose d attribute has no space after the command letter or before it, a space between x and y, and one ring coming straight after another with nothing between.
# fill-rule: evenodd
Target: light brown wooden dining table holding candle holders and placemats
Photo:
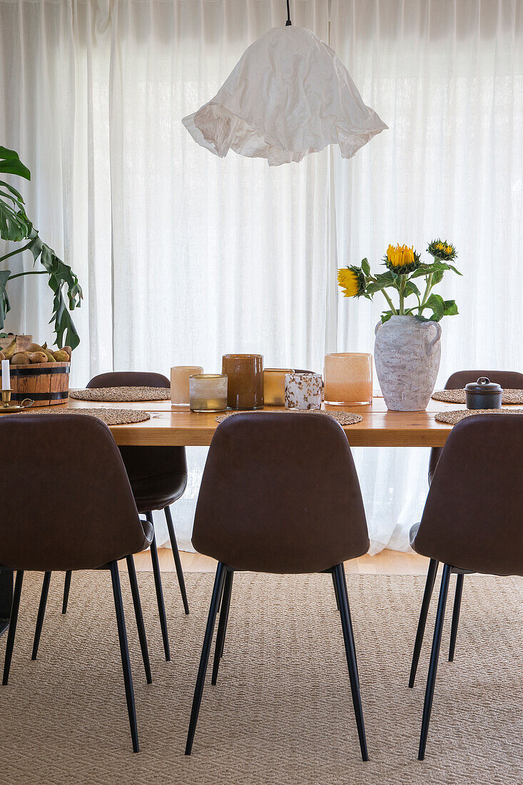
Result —
<instances>
[{"instance_id":1,"label":"light brown wooden dining table holding candle holders and placemats","mask_svg":"<svg viewBox=\"0 0 523 785\"><path fill-rule=\"evenodd\" d=\"M47 407L43 407L45 410ZM195 414L188 407L172 407L170 400L144 403L93 403L69 398L67 403L53 409L79 408L139 409L151 418L133 425L112 425L116 444L147 447L206 447L218 428L216 414ZM361 415L361 422L344 425L352 447L443 447L450 425L436 422L437 411L463 408L456 404L430 400L426 411L387 411L384 400L375 396L368 406L325 407L331 411L354 411ZM280 407L267 407L281 411ZM32 407L31 407L32 411ZM35 408L35 412L42 408ZM9 414L3 415L9 417ZM307 415L303 415L304 417ZM13 598L13 572L0 571L0 635L9 626Z\"/></svg>"}]
</instances>

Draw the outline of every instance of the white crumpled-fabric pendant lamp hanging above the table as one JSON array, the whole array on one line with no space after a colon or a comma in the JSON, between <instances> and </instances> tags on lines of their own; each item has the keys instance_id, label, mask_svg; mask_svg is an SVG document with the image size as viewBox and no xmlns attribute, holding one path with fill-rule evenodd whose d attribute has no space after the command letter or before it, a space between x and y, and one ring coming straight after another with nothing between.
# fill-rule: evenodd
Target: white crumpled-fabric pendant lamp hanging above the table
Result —
<instances>
[{"instance_id":1,"label":"white crumpled-fabric pendant lamp hanging above the table","mask_svg":"<svg viewBox=\"0 0 523 785\"><path fill-rule=\"evenodd\" d=\"M388 127L365 106L338 55L291 24L288 5L286 26L251 44L214 98L182 120L220 158L232 149L279 166L327 144L350 158Z\"/></svg>"}]
</instances>

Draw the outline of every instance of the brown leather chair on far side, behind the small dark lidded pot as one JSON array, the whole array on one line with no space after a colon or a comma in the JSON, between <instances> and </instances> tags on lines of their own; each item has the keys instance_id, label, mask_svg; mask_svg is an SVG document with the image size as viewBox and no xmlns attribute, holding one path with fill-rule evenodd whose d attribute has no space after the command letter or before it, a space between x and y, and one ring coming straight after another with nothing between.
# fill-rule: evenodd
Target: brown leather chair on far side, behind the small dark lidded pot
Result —
<instances>
[{"instance_id":1,"label":"brown leather chair on far side, behind the small dark lidded pot","mask_svg":"<svg viewBox=\"0 0 523 785\"><path fill-rule=\"evenodd\" d=\"M491 382L497 382L503 387L503 389L523 389L523 374L520 374L518 371L455 371L454 374L451 374L448 377L444 389L463 389L466 384L469 382L475 382L481 376L486 376L490 379ZM437 463L441 457L442 449L443 447L432 447L430 450L429 485L432 483ZM419 653L421 652L423 636L425 635L426 619L429 612L430 599L434 589L434 582L436 581L438 566L439 564L437 559L430 560L426 575L422 607L419 613L418 630L415 637L414 652L412 653L411 673L408 680L409 687L414 687L415 683L415 677L419 663ZM461 600L463 597L463 575L466 575L466 571L459 571L456 575L451 637L448 647L449 663L454 661L455 643L458 637L459 614L461 612Z\"/></svg>"}]
</instances>

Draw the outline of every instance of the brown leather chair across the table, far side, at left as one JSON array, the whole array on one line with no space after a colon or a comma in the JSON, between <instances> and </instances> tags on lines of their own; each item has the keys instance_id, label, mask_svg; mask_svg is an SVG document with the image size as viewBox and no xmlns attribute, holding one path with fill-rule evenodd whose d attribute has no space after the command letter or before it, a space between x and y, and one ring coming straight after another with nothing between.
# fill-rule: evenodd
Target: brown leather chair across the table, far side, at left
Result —
<instances>
[{"instance_id":1,"label":"brown leather chair across the table, far side, at left","mask_svg":"<svg viewBox=\"0 0 523 785\"><path fill-rule=\"evenodd\" d=\"M101 387L170 387L169 379L163 374L142 371L115 371L99 374L93 377L88 389ZM169 531L170 544L173 549L174 566L176 568L178 583L180 585L181 600L185 613L189 612L185 579L181 567L180 553L178 551L173 519L170 514L170 505L181 497L187 484L187 461L185 447L120 447L120 453L126 466L134 500L138 512L144 514L152 525L152 510L163 509L166 517L167 530ZM169 634L167 632L167 619L165 603L163 600L162 578L159 568L158 548L154 535L151 542L152 571L155 580L155 591L158 602L160 627L162 630L163 649L165 659L170 660ZM44 577L42 586L43 607L45 609L46 597L49 591L49 578ZM62 613L67 612L68 597L71 586L71 572L65 575L64 601ZM42 616L43 619L43 616ZM33 659L38 652L38 641L42 632L42 625L37 623L35 631L35 644L33 645Z\"/></svg>"}]
</instances>

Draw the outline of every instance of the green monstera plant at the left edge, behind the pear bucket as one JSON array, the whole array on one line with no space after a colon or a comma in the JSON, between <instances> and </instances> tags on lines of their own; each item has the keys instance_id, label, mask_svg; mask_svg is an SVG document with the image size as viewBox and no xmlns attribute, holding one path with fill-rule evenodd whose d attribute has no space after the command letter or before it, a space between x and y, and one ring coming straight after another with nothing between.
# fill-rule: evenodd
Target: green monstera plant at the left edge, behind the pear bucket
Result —
<instances>
[{"instance_id":1,"label":"green monstera plant at the left edge, behind the pear bucket","mask_svg":"<svg viewBox=\"0 0 523 785\"><path fill-rule=\"evenodd\" d=\"M18 154L14 150L0 146L0 176L2 173L31 180L31 172L20 161ZM70 311L79 308L82 301L82 289L78 278L71 268L57 257L53 249L40 239L38 230L25 214L22 195L13 188L13 185L3 180L0 180L0 238L18 244L8 254L0 256L0 267L2 267L0 269L0 330L11 308L7 294L10 282L22 276L49 276L49 287L53 290L53 315L49 324L54 321L56 343L60 348L69 345L71 349L75 349L80 339ZM38 262L43 270L3 269L5 266L3 263L7 259L13 259L18 254L24 254L25 251L31 252L33 266ZM8 264L9 268L13 266L11 261Z\"/></svg>"}]
</instances>

